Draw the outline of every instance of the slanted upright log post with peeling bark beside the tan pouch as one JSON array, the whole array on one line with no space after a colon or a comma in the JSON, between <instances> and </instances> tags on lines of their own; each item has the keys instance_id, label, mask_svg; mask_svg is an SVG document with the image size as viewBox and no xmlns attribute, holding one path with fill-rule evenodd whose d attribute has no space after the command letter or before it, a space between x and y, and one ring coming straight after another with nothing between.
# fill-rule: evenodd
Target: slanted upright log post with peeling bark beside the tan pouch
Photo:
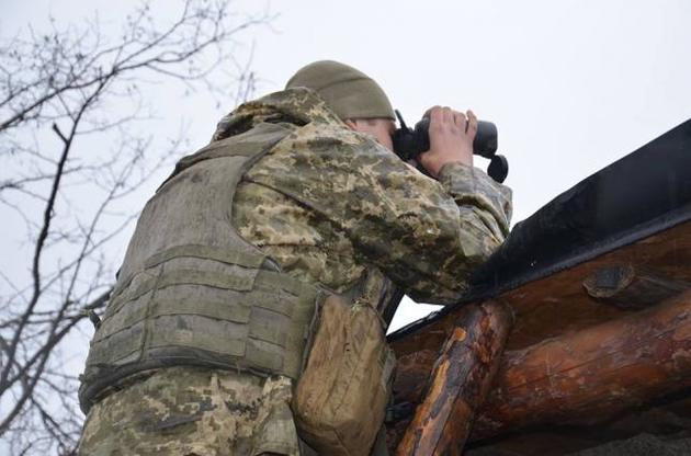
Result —
<instances>
[{"instance_id":1,"label":"slanted upright log post with peeling bark beside the tan pouch","mask_svg":"<svg viewBox=\"0 0 691 456\"><path fill-rule=\"evenodd\" d=\"M513 320L499 301L467 306L437 360L396 454L461 455L477 407L487 396Z\"/></svg>"}]
</instances>

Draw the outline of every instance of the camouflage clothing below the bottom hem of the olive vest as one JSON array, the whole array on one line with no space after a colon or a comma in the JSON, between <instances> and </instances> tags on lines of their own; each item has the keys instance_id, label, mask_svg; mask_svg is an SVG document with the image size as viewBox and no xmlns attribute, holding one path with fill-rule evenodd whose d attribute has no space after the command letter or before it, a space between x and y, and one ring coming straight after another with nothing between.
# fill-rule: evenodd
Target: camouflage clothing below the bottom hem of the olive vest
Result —
<instances>
[{"instance_id":1,"label":"camouflage clothing below the bottom hem of the olive vest","mask_svg":"<svg viewBox=\"0 0 691 456\"><path fill-rule=\"evenodd\" d=\"M170 367L89 411L79 455L314 455L297 437L291 379Z\"/></svg>"}]
</instances>

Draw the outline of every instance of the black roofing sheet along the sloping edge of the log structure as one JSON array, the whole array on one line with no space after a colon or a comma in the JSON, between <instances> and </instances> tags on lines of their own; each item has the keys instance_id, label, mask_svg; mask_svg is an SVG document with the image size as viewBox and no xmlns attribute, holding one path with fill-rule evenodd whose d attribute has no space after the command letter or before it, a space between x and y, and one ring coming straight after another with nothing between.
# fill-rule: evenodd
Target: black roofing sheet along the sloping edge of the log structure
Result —
<instances>
[{"instance_id":1,"label":"black roofing sheet along the sloping edge of the log structure","mask_svg":"<svg viewBox=\"0 0 691 456\"><path fill-rule=\"evenodd\" d=\"M691 219L691 119L598 171L517 224L471 278L487 299ZM389 335L398 339L449 307Z\"/></svg>"}]
</instances>

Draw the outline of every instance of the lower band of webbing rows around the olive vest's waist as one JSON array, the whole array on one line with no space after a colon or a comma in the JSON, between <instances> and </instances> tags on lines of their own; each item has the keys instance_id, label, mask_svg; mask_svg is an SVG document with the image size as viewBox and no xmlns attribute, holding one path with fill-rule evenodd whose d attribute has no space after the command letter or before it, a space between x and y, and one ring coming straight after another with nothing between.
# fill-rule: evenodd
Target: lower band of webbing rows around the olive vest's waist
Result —
<instances>
[{"instance_id":1,"label":"lower band of webbing rows around the olive vest's waist","mask_svg":"<svg viewBox=\"0 0 691 456\"><path fill-rule=\"evenodd\" d=\"M127 300L115 301L118 309L109 311L92 342L94 371L87 376L95 378L81 391L82 402L128 374L169 365L297 378L316 289L283 273L256 271L252 281L200 271L162 273L159 281L141 282ZM184 296L191 285L201 285L207 299Z\"/></svg>"}]
</instances>

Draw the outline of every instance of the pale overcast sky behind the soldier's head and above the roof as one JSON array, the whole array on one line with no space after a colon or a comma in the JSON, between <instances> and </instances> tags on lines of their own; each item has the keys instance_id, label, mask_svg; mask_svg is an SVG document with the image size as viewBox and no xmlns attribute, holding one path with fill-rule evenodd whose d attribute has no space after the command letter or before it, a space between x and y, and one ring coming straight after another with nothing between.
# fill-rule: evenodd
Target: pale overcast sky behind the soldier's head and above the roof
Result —
<instances>
[{"instance_id":1,"label":"pale overcast sky behind the soldier's head and above the roof","mask_svg":"<svg viewBox=\"0 0 691 456\"><path fill-rule=\"evenodd\" d=\"M41 27L48 12L66 21L94 9L116 21L128 3L4 0L0 26L5 34L27 22ZM161 4L167 14L174 2ZM267 3L235 4L258 11ZM279 14L272 27L252 32L258 95L282 89L307 62L336 59L375 78L409 124L434 104L472 107L499 127L514 221L691 118L689 0L268 4ZM165 113L186 114L194 148L233 107L202 95L169 103ZM423 311L407 304L394 326Z\"/></svg>"}]
</instances>

